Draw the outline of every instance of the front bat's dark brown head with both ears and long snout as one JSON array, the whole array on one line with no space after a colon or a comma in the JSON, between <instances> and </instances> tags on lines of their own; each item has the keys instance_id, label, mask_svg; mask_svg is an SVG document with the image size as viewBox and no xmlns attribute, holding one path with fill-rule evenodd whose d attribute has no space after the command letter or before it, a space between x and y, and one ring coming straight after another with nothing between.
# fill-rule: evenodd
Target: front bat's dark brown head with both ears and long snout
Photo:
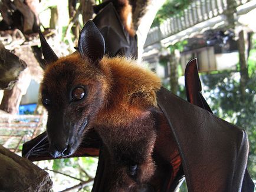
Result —
<instances>
[{"instance_id":1,"label":"front bat's dark brown head with both ears and long snout","mask_svg":"<svg viewBox=\"0 0 256 192\"><path fill-rule=\"evenodd\" d=\"M107 81L100 61L104 39L92 21L81 31L78 52L58 58L40 34L47 61L41 84L42 104L48 111L47 134L53 157L73 154L103 106Z\"/></svg>"}]
</instances>

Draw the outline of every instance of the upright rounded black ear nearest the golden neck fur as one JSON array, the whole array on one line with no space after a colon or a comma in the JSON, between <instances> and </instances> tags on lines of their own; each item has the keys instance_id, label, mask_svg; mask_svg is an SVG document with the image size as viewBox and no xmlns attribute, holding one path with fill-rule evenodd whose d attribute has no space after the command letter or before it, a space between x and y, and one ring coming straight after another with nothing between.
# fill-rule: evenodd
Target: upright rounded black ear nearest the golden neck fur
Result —
<instances>
[{"instance_id":1,"label":"upright rounded black ear nearest the golden neck fur","mask_svg":"<svg viewBox=\"0 0 256 192\"><path fill-rule=\"evenodd\" d=\"M105 41L93 21L88 21L80 32L78 51L92 63L100 61L105 53Z\"/></svg>"}]
</instances>

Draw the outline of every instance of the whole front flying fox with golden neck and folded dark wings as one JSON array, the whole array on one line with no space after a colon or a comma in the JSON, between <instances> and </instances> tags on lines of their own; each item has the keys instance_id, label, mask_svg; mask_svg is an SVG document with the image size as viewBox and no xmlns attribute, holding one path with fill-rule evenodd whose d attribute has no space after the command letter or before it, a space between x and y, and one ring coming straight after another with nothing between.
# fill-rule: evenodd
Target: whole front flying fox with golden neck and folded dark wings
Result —
<instances>
[{"instance_id":1,"label":"whole front flying fox with golden neck and folded dark wings","mask_svg":"<svg viewBox=\"0 0 256 192\"><path fill-rule=\"evenodd\" d=\"M245 183L251 190L245 131L160 88L133 61L104 57L93 22L82 29L75 54L58 59L42 46L48 63L41 87L48 141L42 135L42 145L50 144L53 157L99 155L102 140L106 159L93 191L173 191L184 174L189 191L244 191ZM99 135L87 138L93 129ZM87 139L96 145L87 146ZM23 155L44 151L31 145Z\"/></svg>"}]
</instances>

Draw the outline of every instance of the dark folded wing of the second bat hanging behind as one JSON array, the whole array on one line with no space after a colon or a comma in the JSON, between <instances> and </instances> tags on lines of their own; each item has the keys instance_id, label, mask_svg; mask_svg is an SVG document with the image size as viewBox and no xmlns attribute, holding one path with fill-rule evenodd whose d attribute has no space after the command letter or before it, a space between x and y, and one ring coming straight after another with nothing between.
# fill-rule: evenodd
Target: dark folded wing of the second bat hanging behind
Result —
<instances>
[{"instance_id":1,"label":"dark folded wing of the second bat hanging behind","mask_svg":"<svg viewBox=\"0 0 256 192\"><path fill-rule=\"evenodd\" d=\"M93 19L93 22L105 39L106 54L110 57L116 55L137 57L136 37L130 37L123 27L112 2L103 5L98 5L100 10L97 10L99 13ZM97 9L97 6L95 9Z\"/></svg>"}]
</instances>

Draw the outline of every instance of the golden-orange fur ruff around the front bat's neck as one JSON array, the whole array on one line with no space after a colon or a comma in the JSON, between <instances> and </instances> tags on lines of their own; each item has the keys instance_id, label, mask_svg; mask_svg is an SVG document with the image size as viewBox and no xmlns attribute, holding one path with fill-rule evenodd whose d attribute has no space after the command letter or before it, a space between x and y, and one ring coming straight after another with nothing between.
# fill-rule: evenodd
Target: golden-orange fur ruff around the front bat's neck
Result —
<instances>
[{"instance_id":1,"label":"golden-orange fur ruff around the front bat's neck","mask_svg":"<svg viewBox=\"0 0 256 192\"><path fill-rule=\"evenodd\" d=\"M152 72L139 67L136 61L125 58L107 58L101 60L101 68L109 80L106 107L101 117L107 118L138 117L147 114L156 107L156 92L160 89L160 79ZM111 119L112 119L111 118Z\"/></svg>"}]
</instances>

